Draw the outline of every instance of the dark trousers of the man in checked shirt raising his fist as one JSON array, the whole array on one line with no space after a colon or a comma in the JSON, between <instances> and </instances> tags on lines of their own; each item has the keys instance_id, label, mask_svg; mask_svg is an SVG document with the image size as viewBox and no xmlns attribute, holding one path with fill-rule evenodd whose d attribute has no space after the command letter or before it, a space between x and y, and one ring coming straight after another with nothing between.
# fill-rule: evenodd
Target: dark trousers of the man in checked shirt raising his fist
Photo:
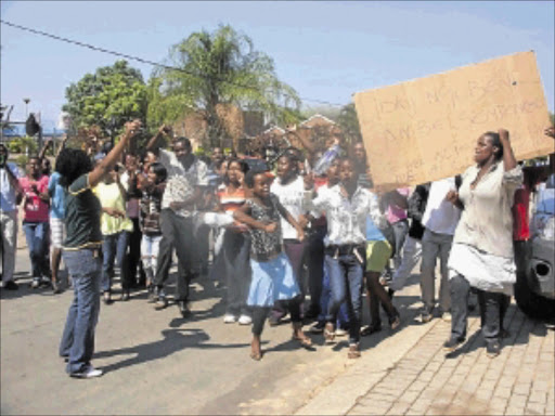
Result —
<instances>
[{"instance_id":1,"label":"dark trousers of the man in checked shirt raising his fist","mask_svg":"<svg viewBox=\"0 0 555 416\"><path fill-rule=\"evenodd\" d=\"M169 208L163 209L160 212L160 229L162 240L154 285L162 288L167 281L171 266L171 253L175 248L179 262L176 300L186 301L194 259L193 219L178 216Z\"/></svg>"}]
</instances>

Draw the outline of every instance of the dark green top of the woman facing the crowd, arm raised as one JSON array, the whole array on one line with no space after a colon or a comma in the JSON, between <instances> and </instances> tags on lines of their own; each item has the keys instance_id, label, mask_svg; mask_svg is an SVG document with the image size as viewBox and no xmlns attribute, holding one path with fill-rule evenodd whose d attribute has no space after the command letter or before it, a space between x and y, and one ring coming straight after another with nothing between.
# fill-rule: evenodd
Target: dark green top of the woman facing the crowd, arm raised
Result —
<instances>
[{"instance_id":1,"label":"dark green top of the woman facing the crowd, arm raised","mask_svg":"<svg viewBox=\"0 0 555 416\"><path fill-rule=\"evenodd\" d=\"M89 185L89 174L80 176L69 185L65 198L67 237L64 249L78 250L102 244L101 210L99 198Z\"/></svg>"}]
</instances>

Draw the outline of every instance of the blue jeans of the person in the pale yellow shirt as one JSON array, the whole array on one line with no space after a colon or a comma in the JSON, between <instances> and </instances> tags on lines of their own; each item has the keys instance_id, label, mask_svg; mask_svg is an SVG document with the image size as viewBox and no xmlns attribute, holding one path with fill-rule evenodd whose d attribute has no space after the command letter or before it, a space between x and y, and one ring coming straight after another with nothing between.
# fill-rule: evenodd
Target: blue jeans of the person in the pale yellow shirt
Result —
<instances>
[{"instance_id":1,"label":"blue jeans of the person in the pale yellow shirt","mask_svg":"<svg viewBox=\"0 0 555 416\"><path fill-rule=\"evenodd\" d=\"M128 242L129 232L127 231L104 235L104 242L102 243L102 291L112 290L114 260L116 262L116 268L119 268L121 273L121 287L124 289L128 289L130 287L127 270L122 268Z\"/></svg>"}]
</instances>

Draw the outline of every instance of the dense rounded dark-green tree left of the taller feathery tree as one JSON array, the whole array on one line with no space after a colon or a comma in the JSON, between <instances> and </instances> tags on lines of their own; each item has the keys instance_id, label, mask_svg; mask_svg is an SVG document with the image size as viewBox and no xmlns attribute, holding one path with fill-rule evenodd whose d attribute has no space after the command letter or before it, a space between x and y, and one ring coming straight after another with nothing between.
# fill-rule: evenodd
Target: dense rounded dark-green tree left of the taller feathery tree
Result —
<instances>
[{"instance_id":1,"label":"dense rounded dark-green tree left of the taller feathery tree","mask_svg":"<svg viewBox=\"0 0 555 416\"><path fill-rule=\"evenodd\" d=\"M74 128L99 126L108 136L122 130L124 125L146 118L146 86L141 73L117 61L94 74L87 74L65 91L67 103L63 110L69 113Z\"/></svg>"}]
</instances>

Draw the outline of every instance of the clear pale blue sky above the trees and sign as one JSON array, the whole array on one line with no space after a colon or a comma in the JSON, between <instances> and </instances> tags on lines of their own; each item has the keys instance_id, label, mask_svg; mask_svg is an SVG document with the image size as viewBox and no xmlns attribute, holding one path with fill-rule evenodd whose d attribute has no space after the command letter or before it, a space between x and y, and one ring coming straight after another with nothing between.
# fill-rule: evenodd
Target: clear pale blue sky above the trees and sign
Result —
<instances>
[{"instance_id":1,"label":"clear pale blue sky above the trees and sign","mask_svg":"<svg viewBox=\"0 0 555 416\"><path fill-rule=\"evenodd\" d=\"M554 1L5 1L1 18L164 62L172 44L230 24L274 60L304 104L533 50L555 109ZM0 102L55 122L65 89L116 56L0 25ZM153 67L130 61L147 79ZM312 100L312 101L311 101Z\"/></svg>"}]
</instances>

